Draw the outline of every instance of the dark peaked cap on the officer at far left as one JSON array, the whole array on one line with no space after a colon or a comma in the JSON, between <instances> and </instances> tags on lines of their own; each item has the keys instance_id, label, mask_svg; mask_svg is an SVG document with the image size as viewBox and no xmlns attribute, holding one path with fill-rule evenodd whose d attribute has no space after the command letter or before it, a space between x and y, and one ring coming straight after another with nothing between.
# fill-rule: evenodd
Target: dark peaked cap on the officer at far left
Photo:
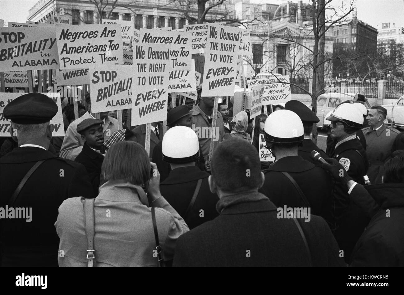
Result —
<instances>
[{"instance_id":1,"label":"dark peaked cap on the officer at far left","mask_svg":"<svg viewBox=\"0 0 404 295\"><path fill-rule=\"evenodd\" d=\"M57 104L45 94L25 93L7 104L3 114L14 123L31 125L49 122L57 110Z\"/></svg>"}]
</instances>

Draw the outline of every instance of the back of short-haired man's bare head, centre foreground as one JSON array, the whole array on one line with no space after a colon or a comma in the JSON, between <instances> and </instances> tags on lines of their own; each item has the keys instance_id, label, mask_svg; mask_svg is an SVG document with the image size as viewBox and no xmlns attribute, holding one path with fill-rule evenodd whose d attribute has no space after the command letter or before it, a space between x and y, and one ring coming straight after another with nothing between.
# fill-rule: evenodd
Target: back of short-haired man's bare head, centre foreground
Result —
<instances>
[{"instance_id":1,"label":"back of short-haired man's bare head, centre foreground","mask_svg":"<svg viewBox=\"0 0 404 295\"><path fill-rule=\"evenodd\" d=\"M221 142L213 153L211 170L222 191L249 191L262 184L259 155L246 140L231 138Z\"/></svg>"}]
</instances>

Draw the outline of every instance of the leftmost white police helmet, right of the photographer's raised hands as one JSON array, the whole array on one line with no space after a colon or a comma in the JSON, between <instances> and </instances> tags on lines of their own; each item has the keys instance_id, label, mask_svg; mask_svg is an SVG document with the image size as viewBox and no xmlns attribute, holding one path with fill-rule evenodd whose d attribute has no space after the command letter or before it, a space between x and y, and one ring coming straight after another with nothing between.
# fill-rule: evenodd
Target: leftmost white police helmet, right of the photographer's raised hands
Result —
<instances>
[{"instance_id":1,"label":"leftmost white police helmet, right of the photographer's raised hands","mask_svg":"<svg viewBox=\"0 0 404 295\"><path fill-rule=\"evenodd\" d=\"M194 162L199 158L198 136L189 127L172 127L164 134L162 154L167 163Z\"/></svg>"}]
</instances>

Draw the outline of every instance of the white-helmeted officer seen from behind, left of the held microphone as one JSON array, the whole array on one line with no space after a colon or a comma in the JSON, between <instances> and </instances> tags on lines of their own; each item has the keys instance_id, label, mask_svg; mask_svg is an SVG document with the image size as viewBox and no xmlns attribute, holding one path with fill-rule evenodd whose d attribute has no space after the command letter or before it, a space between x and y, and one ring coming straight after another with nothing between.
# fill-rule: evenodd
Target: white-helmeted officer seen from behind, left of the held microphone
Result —
<instances>
[{"instance_id":1,"label":"white-helmeted officer seen from behind, left of the held microphone","mask_svg":"<svg viewBox=\"0 0 404 295\"><path fill-rule=\"evenodd\" d=\"M299 116L290 110L273 112L265 121L264 135L276 162L263 171L265 183L259 191L278 207L309 207L331 226L331 179L323 168L298 155L304 138Z\"/></svg>"}]
</instances>

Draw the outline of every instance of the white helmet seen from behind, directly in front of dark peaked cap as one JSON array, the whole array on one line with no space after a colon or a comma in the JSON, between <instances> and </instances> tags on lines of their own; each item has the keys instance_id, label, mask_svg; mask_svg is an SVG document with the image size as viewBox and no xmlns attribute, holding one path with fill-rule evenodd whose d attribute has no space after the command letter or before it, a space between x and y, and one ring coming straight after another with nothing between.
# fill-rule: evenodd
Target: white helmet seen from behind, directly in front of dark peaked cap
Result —
<instances>
[{"instance_id":1,"label":"white helmet seen from behind, directly in front of dark peaked cap","mask_svg":"<svg viewBox=\"0 0 404 295\"><path fill-rule=\"evenodd\" d=\"M303 141L304 129L299 116L290 110L278 110L265 121L265 141L290 145Z\"/></svg>"}]
</instances>

